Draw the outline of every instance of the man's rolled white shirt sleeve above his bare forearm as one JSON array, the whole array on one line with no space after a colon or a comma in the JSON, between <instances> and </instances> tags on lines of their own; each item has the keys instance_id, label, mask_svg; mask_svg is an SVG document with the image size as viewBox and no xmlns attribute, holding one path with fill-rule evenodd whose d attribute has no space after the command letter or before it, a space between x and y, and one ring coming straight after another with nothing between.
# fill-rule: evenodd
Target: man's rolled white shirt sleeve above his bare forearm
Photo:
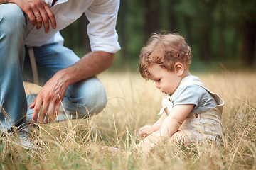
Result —
<instances>
[{"instance_id":1,"label":"man's rolled white shirt sleeve above his bare forearm","mask_svg":"<svg viewBox=\"0 0 256 170\"><path fill-rule=\"evenodd\" d=\"M119 0L94 1L85 11L92 51L115 53L121 49L116 31Z\"/></svg>"}]
</instances>

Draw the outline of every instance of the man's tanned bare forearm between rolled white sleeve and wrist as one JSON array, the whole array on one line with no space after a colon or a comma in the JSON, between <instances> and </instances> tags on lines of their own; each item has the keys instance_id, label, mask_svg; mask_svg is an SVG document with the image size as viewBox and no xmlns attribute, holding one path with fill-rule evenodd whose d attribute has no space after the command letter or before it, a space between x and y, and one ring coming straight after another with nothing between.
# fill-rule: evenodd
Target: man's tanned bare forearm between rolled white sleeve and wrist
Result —
<instances>
[{"instance_id":1,"label":"man's tanned bare forearm between rolled white sleeve and wrist","mask_svg":"<svg viewBox=\"0 0 256 170\"><path fill-rule=\"evenodd\" d=\"M73 66L60 70L60 74L67 85L93 77L100 72L108 69L114 61L114 53L109 52L90 52L81 58Z\"/></svg>"}]
</instances>

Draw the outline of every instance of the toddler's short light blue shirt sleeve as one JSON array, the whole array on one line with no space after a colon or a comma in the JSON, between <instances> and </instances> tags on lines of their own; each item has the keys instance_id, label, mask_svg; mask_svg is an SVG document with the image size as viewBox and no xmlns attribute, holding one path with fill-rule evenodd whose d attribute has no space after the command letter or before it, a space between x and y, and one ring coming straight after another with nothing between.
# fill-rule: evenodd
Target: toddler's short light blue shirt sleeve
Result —
<instances>
[{"instance_id":1,"label":"toddler's short light blue shirt sleeve","mask_svg":"<svg viewBox=\"0 0 256 170\"><path fill-rule=\"evenodd\" d=\"M198 107L198 103L203 96L203 87L196 85L185 86L179 89L174 96L174 106L181 104L194 104L194 108Z\"/></svg>"}]
</instances>

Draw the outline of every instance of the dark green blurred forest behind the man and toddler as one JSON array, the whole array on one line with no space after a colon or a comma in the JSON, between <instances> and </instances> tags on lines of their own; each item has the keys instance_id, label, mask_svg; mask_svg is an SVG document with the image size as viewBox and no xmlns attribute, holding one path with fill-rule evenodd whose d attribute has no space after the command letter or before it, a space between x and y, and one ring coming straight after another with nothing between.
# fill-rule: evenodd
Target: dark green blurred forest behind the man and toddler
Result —
<instances>
[{"instance_id":1,"label":"dark green blurred forest behind the man and toddler","mask_svg":"<svg viewBox=\"0 0 256 170\"><path fill-rule=\"evenodd\" d=\"M186 38L193 68L255 68L255 0L121 0L118 15L122 50L117 52L116 67L137 67L151 33L166 31ZM79 57L90 52L87 23L83 15L61 31L64 45Z\"/></svg>"}]
</instances>

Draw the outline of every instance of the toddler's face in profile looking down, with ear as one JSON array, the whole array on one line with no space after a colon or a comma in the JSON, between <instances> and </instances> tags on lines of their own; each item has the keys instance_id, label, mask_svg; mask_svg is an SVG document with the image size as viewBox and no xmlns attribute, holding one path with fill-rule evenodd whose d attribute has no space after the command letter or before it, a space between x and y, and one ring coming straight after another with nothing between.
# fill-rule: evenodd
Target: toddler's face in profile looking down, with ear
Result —
<instances>
[{"instance_id":1,"label":"toddler's face in profile looking down, with ear","mask_svg":"<svg viewBox=\"0 0 256 170\"><path fill-rule=\"evenodd\" d=\"M176 70L174 72L167 71L159 64L152 64L148 67L148 71L150 73L149 79L156 83L156 88L166 94L174 94L182 79Z\"/></svg>"}]
</instances>

